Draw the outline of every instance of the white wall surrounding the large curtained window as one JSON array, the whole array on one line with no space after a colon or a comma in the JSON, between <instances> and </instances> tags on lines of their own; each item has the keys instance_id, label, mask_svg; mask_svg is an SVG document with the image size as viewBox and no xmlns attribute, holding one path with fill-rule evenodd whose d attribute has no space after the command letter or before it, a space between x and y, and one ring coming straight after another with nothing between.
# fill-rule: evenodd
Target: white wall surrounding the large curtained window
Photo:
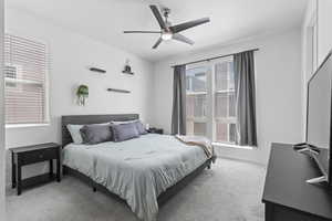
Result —
<instances>
[{"instance_id":1,"label":"white wall surrounding the large curtained window","mask_svg":"<svg viewBox=\"0 0 332 221\"><path fill-rule=\"evenodd\" d=\"M228 46L169 57L155 65L154 125L170 131L170 65L259 48L256 52L258 148L217 147L219 156L266 164L272 141L303 140L301 30L255 38Z\"/></svg>"}]
</instances>

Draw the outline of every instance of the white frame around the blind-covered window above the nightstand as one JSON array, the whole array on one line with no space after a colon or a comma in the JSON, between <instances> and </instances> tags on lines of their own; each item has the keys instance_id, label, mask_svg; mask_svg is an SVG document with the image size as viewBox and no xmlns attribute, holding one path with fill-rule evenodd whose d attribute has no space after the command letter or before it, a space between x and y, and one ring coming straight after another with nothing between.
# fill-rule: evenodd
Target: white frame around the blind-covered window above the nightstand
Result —
<instances>
[{"instance_id":1,"label":"white frame around the blind-covered window above the nightstand","mask_svg":"<svg viewBox=\"0 0 332 221\"><path fill-rule=\"evenodd\" d=\"M25 39L28 41L37 42L37 43L43 44L45 46L45 69L44 69L44 82L43 82L43 87L44 87L44 93L43 93L43 97L44 97L44 104L43 104L44 105L44 107L43 107L44 108L44 119L41 123L8 124L8 123L6 123L6 116L4 116L4 128L8 129L8 128L29 128L29 127L50 126L51 125L51 117L50 117L50 83L49 83L50 61L51 61L50 60L50 43L49 43L49 41L43 40L41 38L18 33L18 32L14 32L12 30L7 31L4 33L4 35L12 35L12 36ZM4 64L4 66L7 65L4 62L3 62L3 64ZM18 65L13 65L13 66L18 66ZM32 83L30 81L25 81L25 82L27 82L27 84ZM24 82L23 82L23 84L24 84ZM6 82L4 82L4 90L6 90ZM6 105L6 103L4 103L4 105ZM6 113L4 113L4 115L6 115Z\"/></svg>"}]
</instances>

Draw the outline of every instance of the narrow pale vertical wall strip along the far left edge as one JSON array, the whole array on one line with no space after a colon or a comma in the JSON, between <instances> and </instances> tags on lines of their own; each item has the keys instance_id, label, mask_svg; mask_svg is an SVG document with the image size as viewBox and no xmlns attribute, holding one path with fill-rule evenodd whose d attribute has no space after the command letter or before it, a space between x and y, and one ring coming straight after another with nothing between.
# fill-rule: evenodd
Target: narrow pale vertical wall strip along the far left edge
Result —
<instances>
[{"instance_id":1,"label":"narrow pale vertical wall strip along the far left edge","mask_svg":"<svg viewBox=\"0 0 332 221\"><path fill-rule=\"evenodd\" d=\"M0 220L4 220L3 0L0 0Z\"/></svg>"}]
</instances>

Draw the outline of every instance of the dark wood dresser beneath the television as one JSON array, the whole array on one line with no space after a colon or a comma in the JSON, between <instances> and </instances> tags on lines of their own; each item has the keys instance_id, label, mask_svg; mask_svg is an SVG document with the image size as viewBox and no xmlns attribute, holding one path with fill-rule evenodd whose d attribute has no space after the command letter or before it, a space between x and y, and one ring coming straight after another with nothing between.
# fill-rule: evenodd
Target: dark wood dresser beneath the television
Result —
<instances>
[{"instance_id":1,"label":"dark wood dresser beneath the television","mask_svg":"<svg viewBox=\"0 0 332 221\"><path fill-rule=\"evenodd\" d=\"M311 157L292 145L272 144L262 196L266 221L332 220L332 189L305 182L319 176Z\"/></svg>"}]
</instances>

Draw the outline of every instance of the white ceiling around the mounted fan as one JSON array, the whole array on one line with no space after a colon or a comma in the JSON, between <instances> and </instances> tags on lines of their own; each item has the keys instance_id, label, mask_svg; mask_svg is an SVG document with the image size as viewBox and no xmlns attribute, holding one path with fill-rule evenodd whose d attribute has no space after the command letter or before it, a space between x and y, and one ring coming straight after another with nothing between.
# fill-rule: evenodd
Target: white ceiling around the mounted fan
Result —
<instances>
[{"instance_id":1,"label":"white ceiling around the mounted fan","mask_svg":"<svg viewBox=\"0 0 332 221\"><path fill-rule=\"evenodd\" d=\"M308 0L7 0L54 23L122 48L149 61L242 38L299 27ZM211 22L184 31L196 43L163 42L158 34L123 34L123 30L159 30L148 4L172 9L173 24L203 17Z\"/></svg>"}]
</instances>

